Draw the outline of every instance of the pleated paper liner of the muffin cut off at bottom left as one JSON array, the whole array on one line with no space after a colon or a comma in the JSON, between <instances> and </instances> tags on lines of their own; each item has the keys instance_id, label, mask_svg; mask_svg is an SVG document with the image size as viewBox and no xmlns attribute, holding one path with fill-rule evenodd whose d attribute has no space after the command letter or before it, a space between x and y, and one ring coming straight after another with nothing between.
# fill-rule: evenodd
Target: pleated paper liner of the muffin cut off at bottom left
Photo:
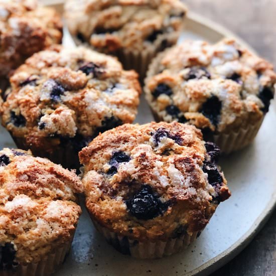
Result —
<instances>
[{"instance_id":1,"label":"pleated paper liner of the muffin cut off at bottom left","mask_svg":"<svg viewBox=\"0 0 276 276\"><path fill-rule=\"evenodd\" d=\"M19 264L13 269L0 271L1 276L46 276L54 273L64 262L65 256L70 251L72 238L63 244L63 246L48 253L47 257L39 262L33 262L28 265Z\"/></svg>"}]
</instances>

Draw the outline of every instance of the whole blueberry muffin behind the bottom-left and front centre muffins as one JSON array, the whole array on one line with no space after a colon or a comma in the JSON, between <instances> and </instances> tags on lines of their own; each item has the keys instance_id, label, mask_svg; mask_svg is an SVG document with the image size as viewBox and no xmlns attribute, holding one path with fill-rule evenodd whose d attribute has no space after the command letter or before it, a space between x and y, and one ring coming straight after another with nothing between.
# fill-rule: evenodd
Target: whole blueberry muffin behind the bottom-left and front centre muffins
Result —
<instances>
[{"instance_id":1,"label":"whole blueberry muffin behind the bottom-left and front centre muffins","mask_svg":"<svg viewBox=\"0 0 276 276\"><path fill-rule=\"evenodd\" d=\"M18 148L66 168L99 133L135 119L141 87L134 71L85 48L36 53L10 79L2 124Z\"/></svg>"}]
</instances>

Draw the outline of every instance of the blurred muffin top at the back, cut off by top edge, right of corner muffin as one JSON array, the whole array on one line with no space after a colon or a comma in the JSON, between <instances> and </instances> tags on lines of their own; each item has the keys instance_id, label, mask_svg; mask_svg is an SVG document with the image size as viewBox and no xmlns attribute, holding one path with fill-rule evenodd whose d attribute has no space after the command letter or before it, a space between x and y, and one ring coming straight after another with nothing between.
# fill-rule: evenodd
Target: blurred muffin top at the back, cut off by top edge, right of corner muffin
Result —
<instances>
[{"instance_id":1,"label":"blurred muffin top at the back, cut off by top edge, right of corner muffin","mask_svg":"<svg viewBox=\"0 0 276 276\"><path fill-rule=\"evenodd\" d=\"M165 46L166 38L181 30L186 12L179 0L69 0L65 4L70 32L103 52Z\"/></svg>"}]
</instances>

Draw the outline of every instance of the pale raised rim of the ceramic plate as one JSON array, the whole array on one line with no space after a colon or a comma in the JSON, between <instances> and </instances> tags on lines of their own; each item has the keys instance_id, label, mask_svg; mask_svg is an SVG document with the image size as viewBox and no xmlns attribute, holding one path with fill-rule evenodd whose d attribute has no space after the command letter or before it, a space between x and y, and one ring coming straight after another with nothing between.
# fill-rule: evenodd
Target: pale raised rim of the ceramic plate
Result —
<instances>
[{"instance_id":1,"label":"pale raised rim of the ceramic plate","mask_svg":"<svg viewBox=\"0 0 276 276\"><path fill-rule=\"evenodd\" d=\"M64 0L44 0L44 1L41 1L41 3L43 3L46 6L56 8L59 11L62 11ZM216 23L210 19L207 19L198 13L189 11L186 17L186 21L187 21L186 25L190 24L192 26L194 23L196 23L198 26L201 26L201 28L209 29L209 31L211 31L212 33L215 32L217 36L220 36L221 38L223 37L234 38L236 41L238 41L238 43L245 46L249 51L251 51L254 54L257 54L257 52L238 35L234 34L229 29L227 29L226 27L223 27L219 23ZM270 112L276 112L273 104L270 105ZM228 263L252 241L255 235L265 225L265 223L267 222L267 220L269 219L269 217L271 216L275 208L276 208L276 193L273 193L271 195L271 200L264 208L264 212L254 220L251 227L235 243L233 243L228 249L222 251L217 256L205 262L204 264L198 266L192 271L184 272L184 273L181 273L180 275L182 276L207 275L216 271L217 269L219 269L220 267Z\"/></svg>"}]
</instances>

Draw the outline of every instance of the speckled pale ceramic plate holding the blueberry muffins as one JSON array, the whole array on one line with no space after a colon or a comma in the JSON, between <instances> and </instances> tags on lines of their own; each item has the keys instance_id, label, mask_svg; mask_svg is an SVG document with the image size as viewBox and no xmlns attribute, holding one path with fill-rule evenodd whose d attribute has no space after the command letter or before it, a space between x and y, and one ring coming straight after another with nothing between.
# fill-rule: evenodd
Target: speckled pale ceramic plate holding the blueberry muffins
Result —
<instances>
[{"instance_id":1,"label":"speckled pale ceramic plate holding the blueberry muffins","mask_svg":"<svg viewBox=\"0 0 276 276\"><path fill-rule=\"evenodd\" d=\"M189 38L216 42L224 36L234 35L190 13L186 31L180 40ZM67 47L74 47L66 30L63 43ZM152 120L150 109L142 96L136 122ZM272 104L254 143L241 152L221 158L220 165L232 196L219 205L202 235L188 249L149 261L122 255L97 233L83 208L72 250L55 276L207 275L225 264L250 242L276 203L275 121L276 108ZM15 145L7 131L0 128L0 148L3 147Z\"/></svg>"}]
</instances>

